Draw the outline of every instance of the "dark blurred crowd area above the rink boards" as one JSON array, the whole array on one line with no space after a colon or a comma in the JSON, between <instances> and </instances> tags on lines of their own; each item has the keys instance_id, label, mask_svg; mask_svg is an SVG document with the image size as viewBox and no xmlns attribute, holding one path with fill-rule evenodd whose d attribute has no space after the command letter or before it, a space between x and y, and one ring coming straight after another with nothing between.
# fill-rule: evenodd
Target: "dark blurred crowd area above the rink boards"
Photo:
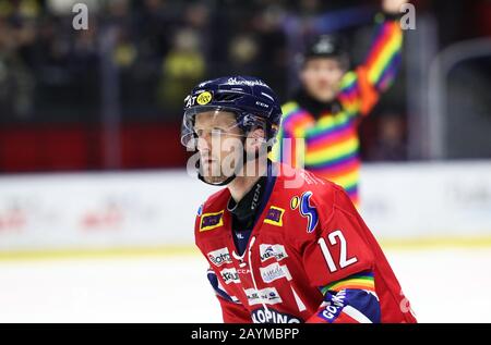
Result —
<instances>
[{"instance_id":1,"label":"dark blurred crowd area above the rink boards","mask_svg":"<svg viewBox=\"0 0 491 345\"><path fill-rule=\"evenodd\" d=\"M76 2L89 9L86 30L72 26ZM412 3L438 23L439 49L491 36L491 1ZM304 42L342 32L356 65L379 9L355 0L0 0L0 172L182 167L181 106L196 83L255 75L286 101ZM364 160L409 157L408 49L360 128ZM489 60L476 64L491 72ZM108 137L118 140L111 164Z\"/></svg>"}]
</instances>

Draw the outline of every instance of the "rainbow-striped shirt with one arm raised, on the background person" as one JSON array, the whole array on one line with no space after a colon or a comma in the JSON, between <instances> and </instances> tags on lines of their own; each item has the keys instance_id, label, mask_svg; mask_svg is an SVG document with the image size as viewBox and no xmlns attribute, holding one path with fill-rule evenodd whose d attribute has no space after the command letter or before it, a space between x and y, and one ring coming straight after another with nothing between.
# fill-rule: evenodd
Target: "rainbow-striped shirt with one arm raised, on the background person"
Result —
<instances>
[{"instance_id":1,"label":"rainbow-striped shirt with one arm raised, on the background person","mask_svg":"<svg viewBox=\"0 0 491 345\"><path fill-rule=\"evenodd\" d=\"M359 204L358 123L394 81L400 63L403 34L397 21L384 21L364 63L346 73L337 96L337 111L315 119L294 100L283 106L283 122L272 158L310 170L343 186ZM290 138L291 140L284 140ZM298 140L301 138L303 140Z\"/></svg>"}]
</instances>

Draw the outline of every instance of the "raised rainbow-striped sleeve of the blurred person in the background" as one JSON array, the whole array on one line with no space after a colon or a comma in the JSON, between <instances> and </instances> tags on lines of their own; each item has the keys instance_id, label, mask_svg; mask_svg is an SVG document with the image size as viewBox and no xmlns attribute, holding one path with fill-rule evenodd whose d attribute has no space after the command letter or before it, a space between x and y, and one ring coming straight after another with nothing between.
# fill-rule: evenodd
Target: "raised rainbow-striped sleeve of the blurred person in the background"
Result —
<instances>
[{"instance_id":1,"label":"raised rainbow-striped sleeve of the blurred person in the background","mask_svg":"<svg viewBox=\"0 0 491 345\"><path fill-rule=\"evenodd\" d=\"M361 65L348 72L340 85L339 99L351 113L367 115L394 82L400 65L403 30L398 21L379 14L369 53Z\"/></svg>"}]
</instances>

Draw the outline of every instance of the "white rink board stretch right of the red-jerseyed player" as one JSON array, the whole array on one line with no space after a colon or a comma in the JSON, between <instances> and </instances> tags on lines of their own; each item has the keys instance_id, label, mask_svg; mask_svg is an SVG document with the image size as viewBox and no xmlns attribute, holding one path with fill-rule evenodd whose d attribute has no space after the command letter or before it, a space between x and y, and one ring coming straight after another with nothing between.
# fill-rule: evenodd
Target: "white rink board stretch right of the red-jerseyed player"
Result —
<instances>
[{"instance_id":1,"label":"white rink board stretch right of the red-jerseyed player","mask_svg":"<svg viewBox=\"0 0 491 345\"><path fill-rule=\"evenodd\" d=\"M491 235L491 161L366 164L360 187L381 237Z\"/></svg>"}]
</instances>

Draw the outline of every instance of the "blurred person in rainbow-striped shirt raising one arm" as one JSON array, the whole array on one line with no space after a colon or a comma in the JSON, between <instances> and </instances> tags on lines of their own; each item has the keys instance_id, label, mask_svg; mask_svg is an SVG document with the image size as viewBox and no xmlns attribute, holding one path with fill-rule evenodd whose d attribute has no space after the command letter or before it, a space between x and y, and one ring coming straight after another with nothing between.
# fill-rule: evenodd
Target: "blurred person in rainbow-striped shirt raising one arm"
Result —
<instances>
[{"instance_id":1,"label":"blurred person in rainbow-striped shirt raising one arm","mask_svg":"<svg viewBox=\"0 0 491 345\"><path fill-rule=\"evenodd\" d=\"M400 62L399 16L407 0L384 0L376 35L363 64L348 70L343 41L320 36L307 50L302 87L283 106L283 123L272 158L310 170L346 189L359 206L358 124L394 81ZM291 140L284 140L284 139ZM303 140L298 140L299 138Z\"/></svg>"}]
</instances>

